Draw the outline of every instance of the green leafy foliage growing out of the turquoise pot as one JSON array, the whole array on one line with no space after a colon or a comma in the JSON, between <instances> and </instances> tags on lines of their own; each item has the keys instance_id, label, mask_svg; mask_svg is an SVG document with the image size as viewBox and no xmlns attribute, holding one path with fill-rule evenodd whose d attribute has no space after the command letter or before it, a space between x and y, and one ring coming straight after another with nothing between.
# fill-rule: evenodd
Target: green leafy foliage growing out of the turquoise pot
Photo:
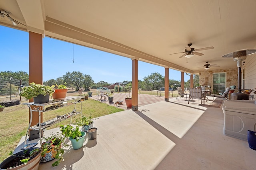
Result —
<instances>
[{"instance_id":1,"label":"green leafy foliage growing out of the turquoise pot","mask_svg":"<svg viewBox=\"0 0 256 170\"><path fill-rule=\"evenodd\" d=\"M79 138L82 137L79 126L76 126L76 128L74 128L71 125L60 125L60 131L62 132L62 135L64 135L64 137L70 137L72 139L76 139L76 141L78 141Z\"/></svg>"}]
</instances>

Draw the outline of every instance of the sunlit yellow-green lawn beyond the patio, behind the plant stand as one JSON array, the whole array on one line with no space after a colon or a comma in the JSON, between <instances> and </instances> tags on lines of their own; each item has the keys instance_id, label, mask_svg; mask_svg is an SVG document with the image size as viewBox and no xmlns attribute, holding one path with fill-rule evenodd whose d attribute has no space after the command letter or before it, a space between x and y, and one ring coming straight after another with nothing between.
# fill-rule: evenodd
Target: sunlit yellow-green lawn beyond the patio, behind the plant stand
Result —
<instances>
[{"instance_id":1,"label":"sunlit yellow-green lawn beyond the patio, behind the plant stand","mask_svg":"<svg viewBox=\"0 0 256 170\"><path fill-rule=\"evenodd\" d=\"M81 104L82 115L91 115L93 118L123 111L123 109L109 106L108 104L90 98L76 104L77 111L81 111ZM74 109L74 106L75 105L70 105L52 111L44 112L43 121L52 119L57 115L64 115L65 113L72 111ZM72 123L74 123L76 118L80 116L81 114L72 117ZM0 162L2 162L4 159L9 157L8 153L17 147L21 137L26 135L29 124L28 106L21 104L17 106L5 107L4 111L0 112L0 120ZM47 129L60 127L61 124L67 125L70 123L70 120L71 119L66 119L65 121L57 123L51 127L48 127Z\"/></svg>"}]
</instances>

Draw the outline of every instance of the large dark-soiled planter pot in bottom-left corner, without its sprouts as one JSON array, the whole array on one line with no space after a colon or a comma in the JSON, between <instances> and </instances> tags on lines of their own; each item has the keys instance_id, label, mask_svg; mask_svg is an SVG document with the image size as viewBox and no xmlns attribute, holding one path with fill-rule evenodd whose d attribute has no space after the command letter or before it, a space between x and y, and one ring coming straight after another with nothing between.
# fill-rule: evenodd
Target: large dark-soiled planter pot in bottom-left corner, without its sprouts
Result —
<instances>
[{"instance_id":1,"label":"large dark-soiled planter pot in bottom-left corner, without its sprouts","mask_svg":"<svg viewBox=\"0 0 256 170\"><path fill-rule=\"evenodd\" d=\"M25 155L29 156L29 152L33 149L37 149L37 148L28 149L28 151L26 152ZM14 160L16 160L16 158L17 158L15 156L10 156L10 157L6 158L0 164L0 170L5 170L7 168L8 168L8 170L38 170L38 166L39 166L39 162L40 162L40 154L41 154L41 152L38 152L38 154L34 158L30 159L27 164L23 163L19 166L12 165L14 167L8 168L8 167L6 167L6 165L8 165L10 162L14 162ZM24 150L14 154L14 155L24 155ZM24 159L24 158L20 158L20 159Z\"/></svg>"}]
</instances>

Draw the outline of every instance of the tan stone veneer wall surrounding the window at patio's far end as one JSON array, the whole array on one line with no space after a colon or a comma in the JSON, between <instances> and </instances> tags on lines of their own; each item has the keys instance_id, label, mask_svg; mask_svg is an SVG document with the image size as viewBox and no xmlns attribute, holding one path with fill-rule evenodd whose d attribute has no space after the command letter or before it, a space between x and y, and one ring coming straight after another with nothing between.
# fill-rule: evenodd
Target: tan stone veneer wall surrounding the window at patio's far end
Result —
<instances>
[{"instance_id":1,"label":"tan stone veneer wall surrounding the window at patio's far end","mask_svg":"<svg viewBox=\"0 0 256 170\"><path fill-rule=\"evenodd\" d=\"M228 69L218 69L204 70L199 72L199 84L200 85L210 85L212 87L212 73L216 72L226 72L226 87L238 86L238 68L228 68Z\"/></svg>"}]
</instances>

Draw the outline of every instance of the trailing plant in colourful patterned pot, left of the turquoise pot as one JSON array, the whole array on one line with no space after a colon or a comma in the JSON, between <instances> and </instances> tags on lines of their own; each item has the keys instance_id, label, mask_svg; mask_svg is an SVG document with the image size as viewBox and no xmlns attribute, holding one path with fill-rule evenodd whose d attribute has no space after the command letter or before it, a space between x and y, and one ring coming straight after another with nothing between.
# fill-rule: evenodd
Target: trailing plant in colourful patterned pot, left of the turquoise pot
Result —
<instances>
[{"instance_id":1,"label":"trailing plant in colourful patterned pot, left of the turquoise pot","mask_svg":"<svg viewBox=\"0 0 256 170\"><path fill-rule=\"evenodd\" d=\"M41 158L40 162L48 162L56 158L57 160L52 164L52 166L57 166L60 161L63 160L64 149L62 144L64 144L65 137L61 135L60 132L50 133L50 136L43 138L46 142L41 145Z\"/></svg>"}]
</instances>

